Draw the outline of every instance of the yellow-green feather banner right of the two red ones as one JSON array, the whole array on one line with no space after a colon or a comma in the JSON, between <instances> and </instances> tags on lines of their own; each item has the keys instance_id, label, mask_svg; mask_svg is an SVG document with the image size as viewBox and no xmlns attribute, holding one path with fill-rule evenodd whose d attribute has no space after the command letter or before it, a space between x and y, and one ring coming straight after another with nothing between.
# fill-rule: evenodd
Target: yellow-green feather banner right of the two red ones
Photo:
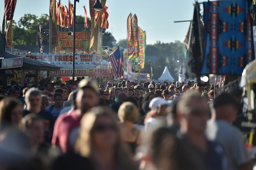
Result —
<instances>
[{"instance_id":1,"label":"yellow-green feather banner right of the two red ones","mask_svg":"<svg viewBox=\"0 0 256 170\"><path fill-rule=\"evenodd\" d=\"M139 57L135 59L135 62L138 63L138 65L135 65L136 71L144 68L144 62L145 62L146 37L145 37L145 32L140 27L138 28L138 42L139 42Z\"/></svg>"}]
</instances>

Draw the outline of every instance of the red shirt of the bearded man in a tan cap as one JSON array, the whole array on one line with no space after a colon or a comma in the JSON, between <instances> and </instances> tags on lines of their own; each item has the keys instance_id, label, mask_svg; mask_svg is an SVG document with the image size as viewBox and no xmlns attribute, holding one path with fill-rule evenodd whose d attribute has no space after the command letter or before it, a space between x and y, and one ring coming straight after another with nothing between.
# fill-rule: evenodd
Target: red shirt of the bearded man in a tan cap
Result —
<instances>
[{"instance_id":1,"label":"red shirt of the bearded man in a tan cap","mask_svg":"<svg viewBox=\"0 0 256 170\"><path fill-rule=\"evenodd\" d=\"M52 144L60 147L63 153L73 151L82 116L76 110L60 115L54 125Z\"/></svg>"}]
</instances>

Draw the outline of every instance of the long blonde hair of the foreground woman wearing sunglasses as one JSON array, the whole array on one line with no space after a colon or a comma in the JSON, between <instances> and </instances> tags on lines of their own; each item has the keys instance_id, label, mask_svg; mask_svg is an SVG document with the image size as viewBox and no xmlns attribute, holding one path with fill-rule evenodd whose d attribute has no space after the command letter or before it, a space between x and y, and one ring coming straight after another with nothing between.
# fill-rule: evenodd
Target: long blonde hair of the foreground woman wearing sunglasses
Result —
<instances>
[{"instance_id":1,"label":"long blonde hair of the foreground woman wearing sunglasses","mask_svg":"<svg viewBox=\"0 0 256 170\"><path fill-rule=\"evenodd\" d=\"M94 107L83 115L80 122L80 131L75 144L75 151L83 157L90 158L95 161L94 150L95 146L92 141L93 127L99 117L105 116L111 118L117 133L117 141L114 147L114 153L121 169L131 170L138 169L135 162L132 160L131 153L123 147L118 125L115 122L114 113L108 107Z\"/></svg>"}]
</instances>

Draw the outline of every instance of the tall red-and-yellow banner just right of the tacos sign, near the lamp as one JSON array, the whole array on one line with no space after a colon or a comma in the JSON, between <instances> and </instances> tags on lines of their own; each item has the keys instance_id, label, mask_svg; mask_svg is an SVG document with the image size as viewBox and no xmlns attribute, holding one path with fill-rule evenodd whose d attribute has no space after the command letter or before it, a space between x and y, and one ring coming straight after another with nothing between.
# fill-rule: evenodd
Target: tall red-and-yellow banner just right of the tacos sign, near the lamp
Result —
<instances>
[{"instance_id":1,"label":"tall red-and-yellow banner just right of the tacos sign, near the lamp","mask_svg":"<svg viewBox=\"0 0 256 170\"><path fill-rule=\"evenodd\" d=\"M98 19L94 23L94 29L92 30L90 49L92 50L93 48L94 52L98 52L98 33L99 33L98 26L99 26L100 18L104 12L105 4L106 4L106 0L101 0L101 5L103 8L99 11Z\"/></svg>"}]
</instances>

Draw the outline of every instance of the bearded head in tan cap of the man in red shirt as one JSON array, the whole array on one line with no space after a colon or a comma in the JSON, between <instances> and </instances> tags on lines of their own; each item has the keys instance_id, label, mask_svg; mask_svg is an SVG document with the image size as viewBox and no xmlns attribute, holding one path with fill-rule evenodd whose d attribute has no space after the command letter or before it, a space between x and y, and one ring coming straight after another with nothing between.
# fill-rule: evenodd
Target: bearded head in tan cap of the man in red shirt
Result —
<instances>
[{"instance_id":1,"label":"bearded head in tan cap of the man in red shirt","mask_svg":"<svg viewBox=\"0 0 256 170\"><path fill-rule=\"evenodd\" d=\"M99 103L98 85L91 79L83 79L78 84L76 106L81 114L95 107Z\"/></svg>"}]
</instances>

